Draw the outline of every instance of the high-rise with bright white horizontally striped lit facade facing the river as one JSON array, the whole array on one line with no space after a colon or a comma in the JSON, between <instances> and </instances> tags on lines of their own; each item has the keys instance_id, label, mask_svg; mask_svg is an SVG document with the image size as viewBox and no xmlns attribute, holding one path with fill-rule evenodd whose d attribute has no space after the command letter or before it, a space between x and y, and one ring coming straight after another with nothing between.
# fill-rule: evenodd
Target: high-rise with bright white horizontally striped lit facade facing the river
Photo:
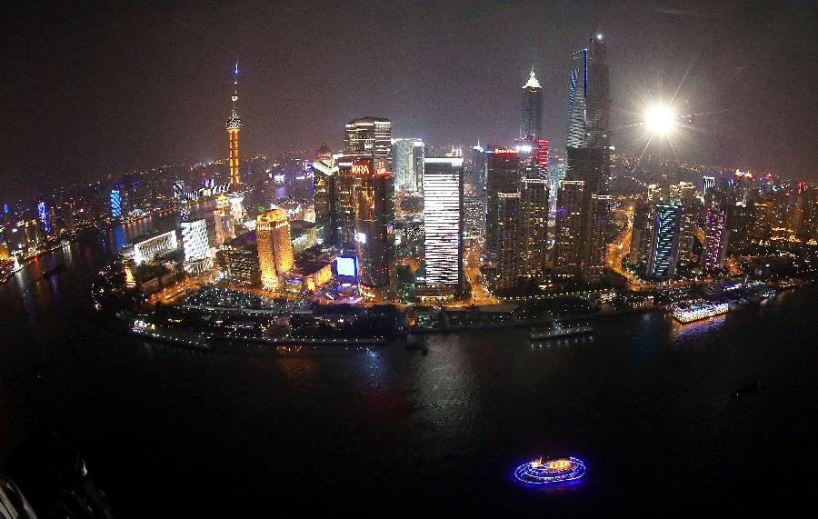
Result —
<instances>
[{"instance_id":1,"label":"high-rise with bright white horizontally striped lit facade facing the river","mask_svg":"<svg viewBox=\"0 0 818 519\"><path fill-rule=\"evenodd\" d=\"M463 159L424 160L426 288L455 294L463 286Z\"/></svg>"}]
</instances>

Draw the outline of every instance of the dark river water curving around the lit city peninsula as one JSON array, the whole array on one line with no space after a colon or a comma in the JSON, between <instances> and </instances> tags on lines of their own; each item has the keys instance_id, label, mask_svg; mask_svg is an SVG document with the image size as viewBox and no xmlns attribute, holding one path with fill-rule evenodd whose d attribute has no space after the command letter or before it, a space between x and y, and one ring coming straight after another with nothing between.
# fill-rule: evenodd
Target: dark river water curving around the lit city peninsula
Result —
<instances>
[{"instance_id":1,"label":"dark river water curving around the lit city peninsula","mask_svg":"<svg viewBox=\"0 0 818 519\"><path fill-rule=\"evenodd\" d=\"M610 317L543 346L497 330L439 335L426 356L191 352L118 333L88 299L128 236L173 224L86 236L0 285L0 472L54 430L118 517L783 512L815 489L813 287L703 324ZM576 455L586 477L515 486L538 454Z\"/></svg>"}]
</instances>

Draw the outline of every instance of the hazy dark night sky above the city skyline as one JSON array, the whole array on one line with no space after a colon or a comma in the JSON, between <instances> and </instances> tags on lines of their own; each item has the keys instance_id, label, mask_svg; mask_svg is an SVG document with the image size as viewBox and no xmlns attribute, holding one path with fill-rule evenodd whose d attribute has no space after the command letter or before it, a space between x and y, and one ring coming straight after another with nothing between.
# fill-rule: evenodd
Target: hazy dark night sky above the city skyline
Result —
<instances>
[{"instance_id":1,"label":"hazy dark night sky above the city skyline","mask_svg":"<svg viewBox=\"0 0 818 519\"><path fill-rule=\"evenodd\" d=\"M560 148L569 55L594 31L608 44L614 127L638 121L648 93L673 95L689 68L675 104L715 113L677 135L680 159L818 181L808 0L102 5L6 12L7 195L224 157L236 57L243 155L339 147L364 115L429 144L510 143L532 65L544 136ZM638 155L637 134L612 143Z\"/></svg>"}]
</instances>

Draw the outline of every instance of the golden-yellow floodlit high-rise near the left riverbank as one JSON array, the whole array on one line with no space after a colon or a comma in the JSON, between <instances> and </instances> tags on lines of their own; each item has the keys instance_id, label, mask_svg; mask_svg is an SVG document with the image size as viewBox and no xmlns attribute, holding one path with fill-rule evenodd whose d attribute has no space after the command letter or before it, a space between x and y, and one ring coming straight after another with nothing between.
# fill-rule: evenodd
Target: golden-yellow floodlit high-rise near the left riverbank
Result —
<instances>
[{"instance_id":1,"label":"golden-yellow floodlit high-rise near the left riverbank","mask_svg":"<svg viewBox=\"0 0 818 519\"><path fill-rule=\"evenodd\" d=\"M281 209L273 209L258 215L255 219L255 239L262 286L275 290L284 274L294 265L287 214Z\"/></svg>"}]
</instances>

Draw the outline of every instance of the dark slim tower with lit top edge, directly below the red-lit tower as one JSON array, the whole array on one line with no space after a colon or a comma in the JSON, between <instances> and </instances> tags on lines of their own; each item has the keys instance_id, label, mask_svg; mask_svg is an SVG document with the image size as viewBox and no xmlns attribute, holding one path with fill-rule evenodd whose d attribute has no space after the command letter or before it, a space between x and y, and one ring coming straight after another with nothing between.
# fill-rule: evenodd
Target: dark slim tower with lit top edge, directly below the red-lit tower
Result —
<instances>
[{"instance_id":1,"label":"dark slim tower with lit top edge, directly below the red-lit tower","mask_svg":"<svg viewBox=\"0 0 818 519\"><path fill-rule=\"evenodd\" d=\"M524 178L520 192L520 275L541 278L545 269L548 237L548 182Z\"/></svg>"}]
</instances>

